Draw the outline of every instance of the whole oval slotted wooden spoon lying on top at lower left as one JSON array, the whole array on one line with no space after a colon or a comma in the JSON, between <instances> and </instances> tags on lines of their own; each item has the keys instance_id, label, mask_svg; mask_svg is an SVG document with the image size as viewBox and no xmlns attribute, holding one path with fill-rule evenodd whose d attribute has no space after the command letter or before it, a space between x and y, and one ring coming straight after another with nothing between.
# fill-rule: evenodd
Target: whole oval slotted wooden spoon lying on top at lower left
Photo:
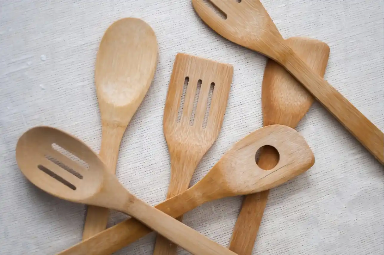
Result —
<instances>
[{"instance_id":1,"label":"whole oval slotted wooden spoon lying on top at lower left","mask_svg":"<svg viewBox=\"0 0 384 255\"><path fill-rule=\"evenodd\" d=\"M83 160L89 168L62 154L53 144ZM195 255L235 255L139 200L119 183L91 148L66 132L52 127L35 127L26 131L17 143L16 160L25 177L51 195L131 215Z\"/></svg>"}]
</instances>

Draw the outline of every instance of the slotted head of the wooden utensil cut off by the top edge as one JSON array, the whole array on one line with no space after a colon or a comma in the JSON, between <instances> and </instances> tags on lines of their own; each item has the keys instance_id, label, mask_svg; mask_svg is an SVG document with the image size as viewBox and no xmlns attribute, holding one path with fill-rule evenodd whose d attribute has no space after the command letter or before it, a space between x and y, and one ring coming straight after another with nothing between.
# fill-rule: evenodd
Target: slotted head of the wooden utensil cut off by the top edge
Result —
<instances>
[{"instance_id":1,"label":"slotted head of the wooden utensil cut off by the top edge","mask_svg":"<svg viewBox=\"0 0 384 255\"><path fill-rule=\"evenodd\" d=\"M268 44L284 39L260 1L192 0L192 5L202 20L224 38L273 59L280 56Z\"/></svg>"}]
</instances>

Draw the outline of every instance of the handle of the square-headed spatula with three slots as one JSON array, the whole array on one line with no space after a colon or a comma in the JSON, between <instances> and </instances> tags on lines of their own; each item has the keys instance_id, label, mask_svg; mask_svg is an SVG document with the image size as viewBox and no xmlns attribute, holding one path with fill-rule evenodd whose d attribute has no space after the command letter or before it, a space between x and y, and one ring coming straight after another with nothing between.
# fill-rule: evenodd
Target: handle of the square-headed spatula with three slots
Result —
<instances>
[{"instance_id":1,"label":"handle of the square-headed spatula with three slots","mask_svg":"<svg viewBox=\"0 0 384 255\"><path fill-rule=\"evenodd\" d=\"M190 155L179 157L177 154L174 156L171 154L171 176L168 187L167 199L174 197L188 189L189 183L192 179L193 173L197 167L199 161L192 159ZM183 216L177 218L180 222ZM177 252L177 245L170 242L165 237L157 235L155 248L153 250L154 255L175 255Z\"/></svg>"}]
</instances>

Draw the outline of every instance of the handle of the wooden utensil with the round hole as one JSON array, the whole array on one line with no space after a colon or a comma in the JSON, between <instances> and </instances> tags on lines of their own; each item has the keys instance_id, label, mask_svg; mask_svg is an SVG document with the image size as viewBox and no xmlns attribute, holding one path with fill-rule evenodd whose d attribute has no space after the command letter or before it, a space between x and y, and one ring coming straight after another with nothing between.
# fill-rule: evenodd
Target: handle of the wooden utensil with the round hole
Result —
<instances>
[{"instance_id":1,"label":"handle of the wooden utensil with the round hole","mask_svg":"<svg viewBox=\"0 0 384 255\"><path fill-rule=\"evenodd\" d=\"M156 205L156 209L173 218L195 209L206 202L201 199L201 196L195 195L195 186L180 195ZM58 255L109 255L151 232L152 230L146 227L146 225L131 218L83 240L71 248L58 253Z\"/></svg>"}]
</instances>

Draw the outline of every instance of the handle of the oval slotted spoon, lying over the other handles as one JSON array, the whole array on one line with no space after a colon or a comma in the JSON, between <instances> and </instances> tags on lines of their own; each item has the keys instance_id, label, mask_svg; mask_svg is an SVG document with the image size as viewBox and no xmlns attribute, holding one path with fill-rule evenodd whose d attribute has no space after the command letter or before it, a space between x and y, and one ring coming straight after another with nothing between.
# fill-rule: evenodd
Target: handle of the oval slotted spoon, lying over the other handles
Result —
<instances>
[{"instance_id":1,"label":"handle of the oval slotted spoon, lying over the other handles","mask_svg":"<svg viewBox=\"0 0 384 255\"><path fill-rule=\"evenodd\" d=\"M194 255L236 255L236 253L141 200L137 199L129 204L126 213L131 214L147 226L151 226L163 237Z\"/></svg>"}]
</instances>

